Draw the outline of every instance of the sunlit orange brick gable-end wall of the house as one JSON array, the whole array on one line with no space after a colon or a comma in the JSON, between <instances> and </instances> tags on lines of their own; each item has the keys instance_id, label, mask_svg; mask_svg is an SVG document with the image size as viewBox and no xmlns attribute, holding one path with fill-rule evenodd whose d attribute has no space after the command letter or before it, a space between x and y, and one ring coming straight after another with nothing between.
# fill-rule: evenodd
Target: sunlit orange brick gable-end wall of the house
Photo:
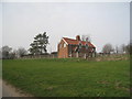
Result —
<instances>
[{"instance_id":1,"label":"sunlit orange brick gable-end wall of the house","mask_svg":"<svg viewBox=\"0 0 132 99\"><path fill-rule=\"evenodd\" d=\"M58 44L58 58L67 58L68 57L68 45L64 47L66 44L63 40Z\"/></svg>"}]
</instances>

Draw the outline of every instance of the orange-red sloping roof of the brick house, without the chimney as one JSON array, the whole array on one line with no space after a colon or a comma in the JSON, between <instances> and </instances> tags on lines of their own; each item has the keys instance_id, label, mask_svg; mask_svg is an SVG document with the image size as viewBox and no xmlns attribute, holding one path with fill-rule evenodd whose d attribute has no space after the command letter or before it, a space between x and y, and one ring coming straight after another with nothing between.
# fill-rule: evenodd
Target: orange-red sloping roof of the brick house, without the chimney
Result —
<instances>
[{"instance_id":1,"label":"orange-red sloping roof of the brick house, without the chimney","mask_svg":"<svg viewBox=\"0 0 132 99\"><path fill-rule=\"evenodd\" d=\"M81 43L82 45L88 44L88 46L95 47L90 42L77 41L77 40L68 38L68 37L63 37L63 40L64 40L67 44L72 44L72 45L78 45L79 43Z\"/></svg>"}]
</instances>

